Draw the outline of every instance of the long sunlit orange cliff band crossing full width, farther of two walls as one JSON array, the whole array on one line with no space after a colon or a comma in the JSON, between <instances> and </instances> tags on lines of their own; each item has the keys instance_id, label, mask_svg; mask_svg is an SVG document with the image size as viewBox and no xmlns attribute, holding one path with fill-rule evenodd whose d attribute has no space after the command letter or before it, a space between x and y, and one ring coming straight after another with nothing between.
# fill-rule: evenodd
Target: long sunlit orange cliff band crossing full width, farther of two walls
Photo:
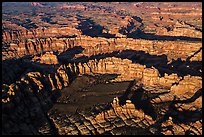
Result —
<instances>
[{"instance_id":1,"label":"long sunlit orange cliff band crossing full width, farther of two walls","mask_svg":"<svg viewBox=\"0 0 204 137\"><path fill-rule=\"evenodd\" d=\"M74 46L81 46L85 48L82 54L86 56L111 53L113 51L121 50L136 50L145 51L151 55L167 55L168 60L176 60L181 58L186 60L189 56L194 55L199 51L191 61L202 60L202 43L194 42L170 42L170 41L151 41L131 38L105 39L105 38L91 38L82 36L80 38L46 38L36 39L11 43L8 51L2 51L3 59L14 58L16 55L22 57L24 55L35 55L45 51L58 51L59 53L66 51ZM176 50L175 50L176 49ZM9 52L13 51L13 52Z\"/></svg>"}]
</instances>

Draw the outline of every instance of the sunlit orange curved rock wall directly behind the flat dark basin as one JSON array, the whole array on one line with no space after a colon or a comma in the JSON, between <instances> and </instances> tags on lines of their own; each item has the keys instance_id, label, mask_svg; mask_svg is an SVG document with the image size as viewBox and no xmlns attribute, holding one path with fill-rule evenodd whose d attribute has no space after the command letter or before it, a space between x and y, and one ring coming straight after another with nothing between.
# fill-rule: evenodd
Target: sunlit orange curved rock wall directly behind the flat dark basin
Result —
<instances>
[{"instance_id":1,"label":"sunlit orange curved rock wall directly behind the flat dark basin","mask_svg":"<svg viewBox=\"0 0 204 137\"><path fill-rule=\"evenodd\" d=\"M85 73L109 73L119 74L114 81L128 81L139 79L144 85L148 86L165 86L171 87L173 83L178 82L179 78L177 74L165 74L161 77L158 70L154 67L147 68L145 65L132 63L128 59L120 59L115 57L109 57L105 59L90 60L87 63L79 63L79 72Z\"/></svg>"}]
</instances>

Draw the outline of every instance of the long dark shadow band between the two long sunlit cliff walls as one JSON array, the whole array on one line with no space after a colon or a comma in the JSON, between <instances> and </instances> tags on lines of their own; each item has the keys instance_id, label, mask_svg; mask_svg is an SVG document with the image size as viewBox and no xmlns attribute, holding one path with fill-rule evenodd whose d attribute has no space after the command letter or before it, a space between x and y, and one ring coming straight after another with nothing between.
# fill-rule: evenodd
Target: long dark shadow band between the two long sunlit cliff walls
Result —
<instances>
[{"instance_id":1,"label":"long dark shadow band between the two long sunlit cliff walls","mask_svg":"<svg viewBox=\"0 0 204 137\"><path fill-rule=\"evenodd\" d=\"M150 55L144 51L123 50L114 51L112 53L92 55L90 57L82 56L74 59L74 62L86 63L89 60L100 60L107 57L117 57L121 59L129 59L133 63L146 65L147 68L155 67L163 77L165 73L168 75L176 73L178 76L202 76L202 61L182 61L180 58L172 60L168 64L166 55Z\"/></svg>"}]
</instances>

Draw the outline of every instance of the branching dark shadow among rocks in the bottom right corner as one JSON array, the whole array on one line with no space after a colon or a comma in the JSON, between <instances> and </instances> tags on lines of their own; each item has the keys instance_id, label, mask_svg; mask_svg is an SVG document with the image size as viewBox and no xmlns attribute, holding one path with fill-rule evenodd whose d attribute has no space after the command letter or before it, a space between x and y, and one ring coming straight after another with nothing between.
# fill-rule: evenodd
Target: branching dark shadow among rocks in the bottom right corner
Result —
<instances>
[{"instance_id":1,"label":"branching dark shadow among rocks in the bottom right corner","mask_svg":"<svg viewBox=\"0 0 204 137\"><path fill-rule=\"evenodd\" d=\"M191 98L186 99L186 100L176 100L174 99L173 101L168 101L168 102L161 102L159 104L154 104L155 107L158 107L159 109L161 106L164 106L164 104L167 105L167 111L165 112L165 115L161 117L161 119L157 120L155 124L151 125L151 127L157 129L157 134L161 134L161 124L168 120L169 116L172 117L172 121L175 124L187 124L189 125L192 122L195 121L200 121L202 120L202 108L201 109L196 109L194 111L192 110L178 110L178 108L175 106L177 103L191 103L195 101L197 98L202 96L202 89L199 89ZM172 127L167 127L168 130L172 130ZM173 132L173 130L172 130ZM186 134L188 134L188 130L185 131ZM199 131L198 131L199 132Z\"/></svg>"}]
</instances>

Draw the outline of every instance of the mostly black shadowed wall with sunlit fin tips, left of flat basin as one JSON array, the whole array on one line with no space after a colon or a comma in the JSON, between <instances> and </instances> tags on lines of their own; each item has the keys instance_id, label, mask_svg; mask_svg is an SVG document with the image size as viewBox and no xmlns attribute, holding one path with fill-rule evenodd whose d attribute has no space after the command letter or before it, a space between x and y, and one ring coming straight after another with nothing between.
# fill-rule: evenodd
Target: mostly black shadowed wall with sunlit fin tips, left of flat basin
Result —
<instances>
[{"instance_id":1,"label":"mostly black shadowed wall with sunlit fin tips, left of flat basin","mask_svg":"<svg viewBox=\"0 0 204 137\"><path fill-rule=\"evenodd\" d=\"M47 127L49 133L54 134L47 111L59 97L59 90L67 87L77 75L73 66L62 65L55 73L48 74L29 72L13 84L3 84L2 133L39 135L46 134L41 128Z\"/></svg>"}]
</instances>

